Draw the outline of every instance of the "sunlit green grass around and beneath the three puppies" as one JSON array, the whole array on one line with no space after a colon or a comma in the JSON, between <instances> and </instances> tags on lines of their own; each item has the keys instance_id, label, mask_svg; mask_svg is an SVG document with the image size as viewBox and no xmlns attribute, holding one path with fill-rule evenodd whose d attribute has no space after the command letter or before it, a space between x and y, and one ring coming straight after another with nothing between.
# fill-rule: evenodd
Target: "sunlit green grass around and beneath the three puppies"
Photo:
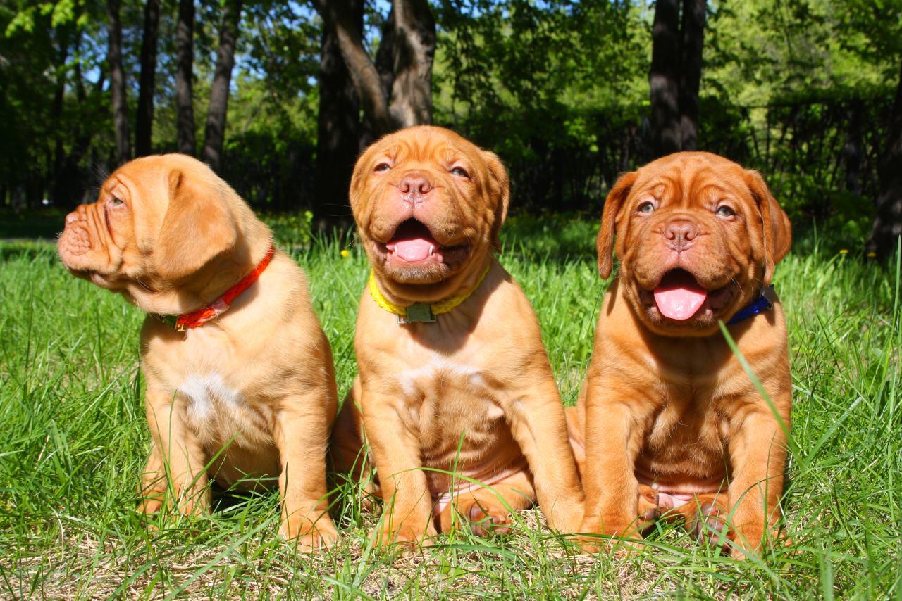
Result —
<instances>
[{"instance_id":1,"label":"sunlit green grass around and beneath the three puppies","mask_svg":"<svg viewBox=\"0 0 902 601\"><path fill-rule=\"evenodd\" d=\"M535 306L564 402L592 347L605 285L590 222L514 219L502 263ZM582 557L538 510L515 533L468 533L413 555L374 551L350 486L342 540L318 556L275 533L274 495L148 528L134 512L147 450L138 329L120 297L69 277L53 247L0 243L0 591L10 597L902 596L902 348L897 268L818 241L778 267L794 374L785 525L792 543L737 561L661 526L629 557ZM338 386L354 376L362 251L292 250L308 271Z\"/></svg>"}]
</instances>

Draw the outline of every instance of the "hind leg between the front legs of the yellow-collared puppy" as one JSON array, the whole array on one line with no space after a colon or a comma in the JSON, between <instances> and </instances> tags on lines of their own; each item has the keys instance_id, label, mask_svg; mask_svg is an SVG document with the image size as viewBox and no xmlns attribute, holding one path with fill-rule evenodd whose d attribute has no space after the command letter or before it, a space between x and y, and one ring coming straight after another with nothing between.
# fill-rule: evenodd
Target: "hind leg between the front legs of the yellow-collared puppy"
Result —
<instances>
[{"instance_id":1,"label":"hind leg between the front legs of the yellow-collared puppy","mask_svg":"<svg viewBox=\"0 0 902 601\"><path fill-rule=\"evenodd\" d=\"M456 493L454 502L437 515L440 530L468 525L476 536L511 532L511 510L528 509L536 503L532 477L526 469L485 487L473 487Z\"/></svg>"}]
</instances>

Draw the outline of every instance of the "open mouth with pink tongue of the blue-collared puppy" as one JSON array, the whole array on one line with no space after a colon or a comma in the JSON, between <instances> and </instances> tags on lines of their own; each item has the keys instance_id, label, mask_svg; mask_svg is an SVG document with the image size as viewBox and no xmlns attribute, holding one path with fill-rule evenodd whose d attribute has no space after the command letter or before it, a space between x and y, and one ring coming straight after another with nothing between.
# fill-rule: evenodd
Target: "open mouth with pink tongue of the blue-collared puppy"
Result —
<instances>
[{"instance_id":1,"label":"open mouth with pink tongue of the blue-collared puppy","mask_svg":"<svg viewBox=\"0 0 902 601\"><path fill-rule=\"evenodd\" d=\"M732 297L731 287L708 290L698 283L686 269L670 269L653 291L647 293L650 304L667 319L685 322L693 317L716 314L728 305Z\"/></svg>"}]
</instances>

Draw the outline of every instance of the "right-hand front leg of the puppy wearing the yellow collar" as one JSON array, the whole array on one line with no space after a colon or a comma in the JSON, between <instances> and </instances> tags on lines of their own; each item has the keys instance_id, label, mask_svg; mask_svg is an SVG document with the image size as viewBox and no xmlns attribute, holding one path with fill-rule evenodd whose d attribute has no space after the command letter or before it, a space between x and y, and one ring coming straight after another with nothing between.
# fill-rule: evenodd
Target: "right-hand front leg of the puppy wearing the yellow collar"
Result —
<instances>
[{"instance_id":1,"label":"right-hand front leg of the puppy wearing the yellow collar","mask_svg":"<svg viewBox=\"0 0 902 601\"><path fill-rule=\"evenodd\" d=\"M583 487L567 436L564 405L551 375L512 396L504 412L529 462L538 505L548 525L562 533L577 532L583 522Z\"/></svg>"}]
</instances>

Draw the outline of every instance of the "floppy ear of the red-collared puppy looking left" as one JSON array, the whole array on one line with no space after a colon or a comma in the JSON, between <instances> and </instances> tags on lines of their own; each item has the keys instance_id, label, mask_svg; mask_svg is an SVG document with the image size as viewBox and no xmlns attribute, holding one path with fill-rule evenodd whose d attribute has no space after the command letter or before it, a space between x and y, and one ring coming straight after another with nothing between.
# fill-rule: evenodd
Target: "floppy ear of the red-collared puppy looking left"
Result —
<instances>
[{"instance_id":1,"label":"floppy ear of the red-collared puppy looking left","mask_svg":"<svg viewBox=\"0 0 902 601\"><path fill-rule=\"evenodd\" d=\"M170 173L169 192L153 257L161 277L179 279L233 249L238 231L223 200L229 192L224 182L176 169Z\"/></svg>"}]
</instances>

